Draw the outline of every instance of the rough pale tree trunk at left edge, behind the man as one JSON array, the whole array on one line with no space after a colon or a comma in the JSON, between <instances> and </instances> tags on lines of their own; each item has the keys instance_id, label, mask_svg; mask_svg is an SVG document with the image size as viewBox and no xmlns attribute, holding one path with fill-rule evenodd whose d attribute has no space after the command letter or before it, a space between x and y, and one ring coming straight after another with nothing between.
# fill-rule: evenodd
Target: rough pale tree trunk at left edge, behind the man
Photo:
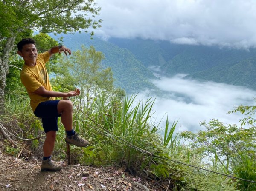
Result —
<instances>
[{"instance_id":1,"label":"rough pale tree trunk at left edge, behind the man","mask_svg":"<svg viewBox=\"0 0 256 191\"><path fill-rule=\"evenodd\" d=\"M16 35L6 39L3 54L0 55L0 115L4 114L4 89L6 86L6 75L9 71L9 56L14 46Z\"/></svg>"}]
</instances>

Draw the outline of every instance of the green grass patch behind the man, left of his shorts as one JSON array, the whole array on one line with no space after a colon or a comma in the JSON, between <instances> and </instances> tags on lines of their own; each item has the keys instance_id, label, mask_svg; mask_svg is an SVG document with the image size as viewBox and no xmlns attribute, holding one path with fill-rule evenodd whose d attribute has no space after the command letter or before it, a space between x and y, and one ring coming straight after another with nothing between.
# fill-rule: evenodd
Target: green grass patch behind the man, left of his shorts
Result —
<instances>
[{"instance_id":1,"label":"green grass patch behind the man, left of his shorts","mask_svg":"<svg viewBox=\"0 0 256 191\"><path fill-rule=\"evenodd\" d=\"M32 113L29 99L26 99L26 97L7 94L5 114L0 116L0 122L7 128L9 131L8 134L11 133L17 137L31 139L43 133L41 120ZM19 140L14 136L11 136L11 138L15 140L17 145L24 144L19 143ZM26 148L30 148L34 157L41 157L42 152L38 150L40 145L41 140L26 141ZM10 150L13 149L13 145L11 147ZM19 149L19 147L16 149ZM21 157L31 157L31 151L27 149L23 149L23 151L24 152L20 155ZM18 153L19 152L20 151L18 151Z\"/></svg>"}]
</instances>

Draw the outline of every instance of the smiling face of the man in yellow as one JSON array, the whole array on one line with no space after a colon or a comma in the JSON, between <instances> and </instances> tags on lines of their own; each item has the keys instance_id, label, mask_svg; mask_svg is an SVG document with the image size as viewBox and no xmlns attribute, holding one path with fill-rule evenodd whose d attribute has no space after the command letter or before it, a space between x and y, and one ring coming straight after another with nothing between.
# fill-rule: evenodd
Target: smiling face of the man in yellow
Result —
<instances>
[{"instance_id":1,"label":"smiling face of the man in yellow","mask_svg":"<svg viewBox=\"0 0 256 191\"><path fill-rule=\"evenodd\" d=\"M17 53L23 57L25 63L35 63L35 59L37 58L37 50L34 44L26 44L23 46L21 51L17 51Z\"/></svg>"}]
</instances>

